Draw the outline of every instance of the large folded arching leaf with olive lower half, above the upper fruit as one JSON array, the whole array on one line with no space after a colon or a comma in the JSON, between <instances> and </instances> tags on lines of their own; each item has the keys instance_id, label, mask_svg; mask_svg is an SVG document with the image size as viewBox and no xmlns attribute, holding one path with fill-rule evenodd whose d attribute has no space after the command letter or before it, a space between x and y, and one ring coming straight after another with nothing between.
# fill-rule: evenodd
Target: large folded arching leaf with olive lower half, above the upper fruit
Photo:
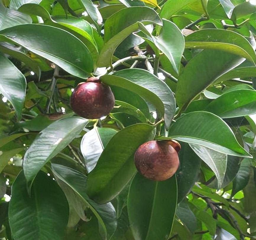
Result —
<instances>
[{"instance_id":1,"label":"large folded arching leaf with olive lower half, above the upper fruit","mask_svg":"<svg viewBox=\"0 0 256 240\"><path fill-rule=\"evenodd\" d=\"M129 19L129 21L124 21L124 19ZM156 11L146 6L121 9L106 20L104 39L107 42L100 52L98 67L112 65L114 51L124 39L139 28L138 21L145 24L162 24Z\"/></svg>"}]
</instances>

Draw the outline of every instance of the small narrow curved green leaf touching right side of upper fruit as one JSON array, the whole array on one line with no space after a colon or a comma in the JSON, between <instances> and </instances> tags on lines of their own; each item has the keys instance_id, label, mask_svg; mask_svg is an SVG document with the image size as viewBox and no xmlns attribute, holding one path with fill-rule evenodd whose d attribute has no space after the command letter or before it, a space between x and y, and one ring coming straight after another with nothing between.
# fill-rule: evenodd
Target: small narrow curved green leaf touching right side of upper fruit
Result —
<instances>
[{"instance_id":1,"label":"small narrow curved green leaf touching right side of upper fruit","mask_svg":"<svg viewBox=\"0 0 256 240\"><path fill-rule=\"evenodd\" d=\"M112 109L112 113L129 114L140 120L142 123L147 123L145 115L140 111L140 109L137 109L135 106L118 100L115 101L115 104L116 106Z\"/></svg>"}]
</instances>

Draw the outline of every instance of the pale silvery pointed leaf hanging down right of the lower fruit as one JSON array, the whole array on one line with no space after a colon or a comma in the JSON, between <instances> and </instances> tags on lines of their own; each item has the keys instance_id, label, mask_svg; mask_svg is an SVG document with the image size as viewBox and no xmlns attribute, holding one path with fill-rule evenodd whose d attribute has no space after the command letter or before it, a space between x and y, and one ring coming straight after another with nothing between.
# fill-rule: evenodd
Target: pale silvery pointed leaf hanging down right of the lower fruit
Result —
<instances>
[{"instance_id":1,"label":"pale silvery pointed leaf hanging down right of the lower fruit","mask_svg":"<svg viewBox=\"0 0 256 240\"><path fill-rule=\"evenodd\" d=\"M226 173L227 155L200 145L189 145L194 152L210 167L210 169L213 170L218 179L218 189L220 189Z\"/></svg>"}]
</instances>

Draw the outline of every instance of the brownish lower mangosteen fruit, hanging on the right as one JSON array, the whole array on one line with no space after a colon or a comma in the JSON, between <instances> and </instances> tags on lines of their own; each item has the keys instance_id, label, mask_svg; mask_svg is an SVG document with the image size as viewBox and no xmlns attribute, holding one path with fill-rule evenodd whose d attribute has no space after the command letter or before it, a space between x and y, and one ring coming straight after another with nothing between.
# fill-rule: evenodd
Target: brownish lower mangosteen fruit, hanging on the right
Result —
<instances>
[{"instance_id":1,"label":"brownish lower mangosteen fruit, hanging on the right","mask_svg":"<svg viewBox=\"0 0 256 240\"><path fill-rule=\"evenodd\" d=\"M180 144L174 140L145 142L135 152L135 166L148 179L166 180L179 167L180 149Z\"/></svg>"}]
</instances>

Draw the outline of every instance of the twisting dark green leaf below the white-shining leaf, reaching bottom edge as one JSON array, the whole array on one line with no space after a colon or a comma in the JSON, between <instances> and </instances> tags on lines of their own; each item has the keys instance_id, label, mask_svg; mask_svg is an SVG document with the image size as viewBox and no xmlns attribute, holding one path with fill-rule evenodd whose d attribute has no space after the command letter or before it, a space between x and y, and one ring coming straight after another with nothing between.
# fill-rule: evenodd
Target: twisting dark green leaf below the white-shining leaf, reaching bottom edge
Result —
<instances>
[{"instance_id":1,"label":"twisting dark green leaf below the white-shining leaf, reaching bottom edge","mask_svg":"<svg viewBox=\"0 0 256 240\"><path fill-rule=\"evenodd\" d=\"M111 203L97 204L91 200L85 191L86 176L72 168L63 165L52 164L54 175L67 184L81 198L86 206L98 219L99 228L104 231L104 239L110 239L116 230L116 212Z\"/></svg>"}]
</instances>

